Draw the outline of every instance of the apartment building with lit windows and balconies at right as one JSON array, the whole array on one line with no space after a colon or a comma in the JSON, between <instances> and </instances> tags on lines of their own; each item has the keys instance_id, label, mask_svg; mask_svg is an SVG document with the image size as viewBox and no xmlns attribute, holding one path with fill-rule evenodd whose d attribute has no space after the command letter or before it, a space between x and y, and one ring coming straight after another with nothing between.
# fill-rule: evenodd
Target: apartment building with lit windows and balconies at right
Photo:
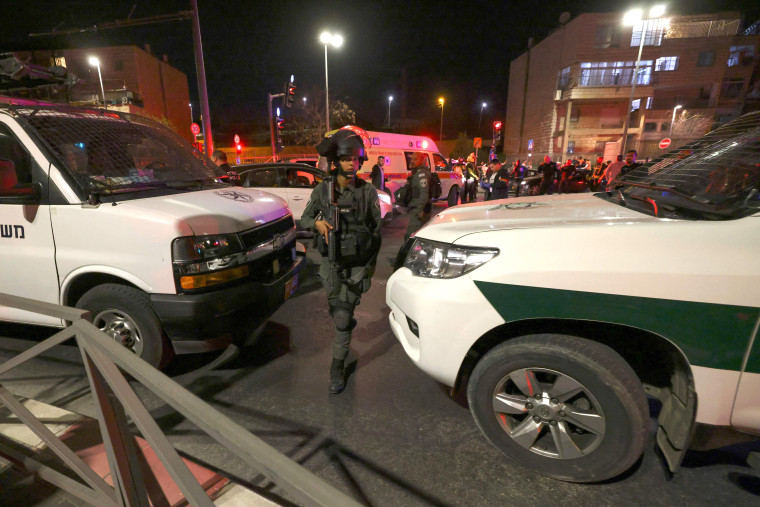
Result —
<instances>
[{"instance_id":1,"label":"apartment building with lit windows and balconies at right","mask_svg":"<svg viewBox=\"0 0 760 507\"><path fill-rule=\"evenodd\" d=\"M740 32L741 23L734 12L632 27L618 13L578 16L512 61L504 151L614 157L642 37L625 143L640 159L662 153L664 138L672 149L760 108L760 36Z\"/></svg>"}]
</instances>

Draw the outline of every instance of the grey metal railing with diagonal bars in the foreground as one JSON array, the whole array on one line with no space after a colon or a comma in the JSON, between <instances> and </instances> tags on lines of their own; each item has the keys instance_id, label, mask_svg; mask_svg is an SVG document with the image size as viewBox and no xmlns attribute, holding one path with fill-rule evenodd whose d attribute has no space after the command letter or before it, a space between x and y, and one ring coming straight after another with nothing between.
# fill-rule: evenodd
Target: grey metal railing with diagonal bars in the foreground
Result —
<instances>
[{"instance_id":1,"label":"grey metal railing with diagonal bars in the foreground","mask_svg":"<svg viewBox=\"0 0 760 507\"><path fill-rule=\"evenodd\" d=\"M22 463L41 479L77 498L98 506L160 505L147 491L143 477L150 470L138 460L134 435L126 415L152 446L161 463L190 505L213 505L187 465L169 443L158 424L140 402L124 373L193 422L207 435L237 455L257 472L283 488L303 505L359 505L301 465L201 400L132 352L117 344L92 325L89 312L0 293L0 306L18 308L70 324L50 338L0 364L0 375L46 350L75 338L90 382L98 422L105 444L114 487L101 479L79 456L69 449L42 422L0 383L0 402L31 429L85 484L75 481L16 451L0 448L14 461ZM146 475L148 474L148 475Z\"/></svg>"}]
</instances>

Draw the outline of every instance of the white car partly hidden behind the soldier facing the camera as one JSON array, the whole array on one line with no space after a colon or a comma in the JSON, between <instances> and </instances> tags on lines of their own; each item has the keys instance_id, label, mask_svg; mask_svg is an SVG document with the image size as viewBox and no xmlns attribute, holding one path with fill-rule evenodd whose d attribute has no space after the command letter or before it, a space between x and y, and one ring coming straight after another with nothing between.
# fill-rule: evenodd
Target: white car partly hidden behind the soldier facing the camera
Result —
<instances>
[{"instance_id":1,"label":"white car partly hidden behind the soldier facing the camera","mask_svg":"<svg viewBox=\"0 0 760 507\"><path fill-rule=\"evenodd\" d=\"M325 177L324 171L306 164L274 163L239 165L235 170L243 187L252 187L285 199L296 224L306 209L311 192ZM378 191L383 220L393 218L393 205L387 192Z\"/></svg>"}]
</instances>

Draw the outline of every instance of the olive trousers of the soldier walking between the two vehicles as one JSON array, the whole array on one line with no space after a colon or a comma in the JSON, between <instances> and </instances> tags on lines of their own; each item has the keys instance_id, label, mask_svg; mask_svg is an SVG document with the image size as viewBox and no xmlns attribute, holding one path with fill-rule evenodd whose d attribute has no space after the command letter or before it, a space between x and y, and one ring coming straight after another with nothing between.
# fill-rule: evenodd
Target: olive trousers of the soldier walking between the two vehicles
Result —
<instances>
[{"instance_id":1,"label":"olive trousers of the soldier walking between the two vehicles","mask_svg":"<svg viewBox=\"0 0 760 507\"><path fill-rule=\"evenodd\" d=\"M356 327L354 308L361 302L363 288L361 281L357 284L347 283L347 281L349 278L357 276L362 269L365 268L341 269L336 266L335 272L331 273L333 266L326 258L322 258L322 264L319 266L319 278L327 293L330 316L335 324L333 359L344 360L348 355L348 349L351 345L351 332Z\"/></svg>"}]
</instances>

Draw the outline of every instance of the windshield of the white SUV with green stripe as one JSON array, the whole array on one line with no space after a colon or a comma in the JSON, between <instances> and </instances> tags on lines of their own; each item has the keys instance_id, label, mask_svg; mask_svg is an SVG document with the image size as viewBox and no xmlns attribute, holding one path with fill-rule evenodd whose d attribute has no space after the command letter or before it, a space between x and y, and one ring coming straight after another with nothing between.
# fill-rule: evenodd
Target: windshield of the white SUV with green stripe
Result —
<instances>
[{"instance_id":1,"label":"windshield of the white SUV with green stripe","mask_svg":"<svg viewBox=\"0 0 760 507\"><path fill-rule=\"evenodd\" d=\"M669 218L722 220L760 209L760 112L642 165L605 199Z\"/></svg>"}]
</instances>

